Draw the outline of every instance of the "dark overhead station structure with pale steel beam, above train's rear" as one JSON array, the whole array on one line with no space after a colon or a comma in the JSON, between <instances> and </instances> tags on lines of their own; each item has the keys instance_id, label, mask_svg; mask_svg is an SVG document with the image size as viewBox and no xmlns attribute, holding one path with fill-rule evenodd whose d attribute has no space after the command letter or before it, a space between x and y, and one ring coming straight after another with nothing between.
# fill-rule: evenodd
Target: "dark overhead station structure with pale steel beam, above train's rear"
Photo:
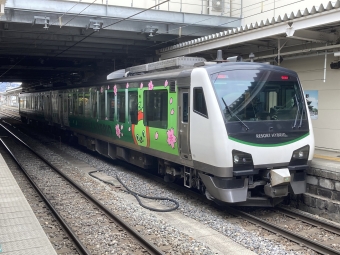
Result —
<instances>
[{"instance_id":1,"label":"dark overhead station structure with pale steel beam, above train's rear","mask_svg":"<svg viewBox=\"0 0 340 255\"><path fill-rule=\"evenodd\" d=\"M158 49L241 24L240 18L102 0L0 1L0 82L21 81L30 90L99 81L158 60Z\"/></svg>"}]
</instances>

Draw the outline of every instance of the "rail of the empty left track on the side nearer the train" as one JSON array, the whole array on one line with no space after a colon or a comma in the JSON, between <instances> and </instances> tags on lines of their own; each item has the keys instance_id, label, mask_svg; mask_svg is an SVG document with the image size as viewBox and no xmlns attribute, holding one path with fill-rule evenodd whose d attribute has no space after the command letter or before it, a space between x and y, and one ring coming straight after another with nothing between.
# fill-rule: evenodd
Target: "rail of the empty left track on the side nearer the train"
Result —
<instances>
[{"instance_id":1,"label":"rail of the empty left track on the side nearer the train","mask_svg":"<svg viewBox=\"0 0 340 255\"><path fill-rule=\"evenodd\" d=\"M15 137L19 142L21 142L27 149L33 152L37 157L39 157L42 161L44 161L49 167L55 170L60 176L62 176L65 180L73 185L78 191L82 193L89 201L91 201L94 205L96 205L100 210L102 210L111 220L113 220L117 225L123 228L127 233L130 234L134 239L136 239L139 244L146 249L151 254L155 255L164 255L164 252L157 248L153 243L148 241L144 236L139 234L134 228L129 226L123 219L121 219L118 215L112 213L105 205L103 205L100 201L98 201L94 196L89 194L85 189L80 187L77 183L75 183L71 178L61 172L57 167L51 164L47 159L45 159L42 155L34 151L29 145L27 145L24 141L22 141L19 137L17 137L14 133L8 130L4 125L0 124L7 132L9 132L13 137Z\"/></svg>"}]
</instances>

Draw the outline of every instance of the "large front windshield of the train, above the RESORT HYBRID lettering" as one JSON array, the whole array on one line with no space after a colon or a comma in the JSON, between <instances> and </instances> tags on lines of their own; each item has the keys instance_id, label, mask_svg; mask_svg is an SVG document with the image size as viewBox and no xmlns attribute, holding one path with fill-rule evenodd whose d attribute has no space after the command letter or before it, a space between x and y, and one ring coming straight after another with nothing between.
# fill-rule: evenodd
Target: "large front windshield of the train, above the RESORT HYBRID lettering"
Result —
<instances>
[{"instance_id":1,"label":"large front windshield of the train, above the RESORT HYBRID lettering","mask_svg":"<svg viewBox=\"0 0 340 255\"><path fill-rule=\"evenodd\" d=\"M296 77L272 70L215 73L212 82L227 121L306 119Z\"/></svg>"}]
</instances>

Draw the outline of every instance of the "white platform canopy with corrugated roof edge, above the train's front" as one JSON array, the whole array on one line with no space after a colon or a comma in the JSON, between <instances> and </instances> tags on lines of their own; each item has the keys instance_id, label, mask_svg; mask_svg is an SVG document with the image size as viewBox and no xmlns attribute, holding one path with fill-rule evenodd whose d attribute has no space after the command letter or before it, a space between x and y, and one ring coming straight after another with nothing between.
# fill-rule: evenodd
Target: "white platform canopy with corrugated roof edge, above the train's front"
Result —
<instances>
[{"instance_id":1,"label":"white platform canopy with corrugated roof edge, above the train's front","mask_svg":"<svg viewBox=\"0 0 340 255\"><path fill-rule=\"evenodd\" d=\"M162 59L178 56L242 56L244 61L278 64L285 59L340 55L340 1L262 20L158 50Z\"/></svg>"}]
</instances>

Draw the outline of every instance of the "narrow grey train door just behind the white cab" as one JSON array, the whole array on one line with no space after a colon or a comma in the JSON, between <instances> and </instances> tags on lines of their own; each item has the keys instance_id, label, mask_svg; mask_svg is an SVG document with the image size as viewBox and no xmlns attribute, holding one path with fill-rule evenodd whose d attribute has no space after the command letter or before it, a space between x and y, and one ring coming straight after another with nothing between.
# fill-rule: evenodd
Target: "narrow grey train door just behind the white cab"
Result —
<instances>
[{"instance_id":1,"label":"narrow grey train door just behind the white cab","mask_svg":"<svg viewBox=\"0 0 340 255\"><path fill-rule=\"evenodd\" d=\"M191 160L189 125L189 89L179 89L179 150L181 158Z\"/></svg>"}]
</instances>

